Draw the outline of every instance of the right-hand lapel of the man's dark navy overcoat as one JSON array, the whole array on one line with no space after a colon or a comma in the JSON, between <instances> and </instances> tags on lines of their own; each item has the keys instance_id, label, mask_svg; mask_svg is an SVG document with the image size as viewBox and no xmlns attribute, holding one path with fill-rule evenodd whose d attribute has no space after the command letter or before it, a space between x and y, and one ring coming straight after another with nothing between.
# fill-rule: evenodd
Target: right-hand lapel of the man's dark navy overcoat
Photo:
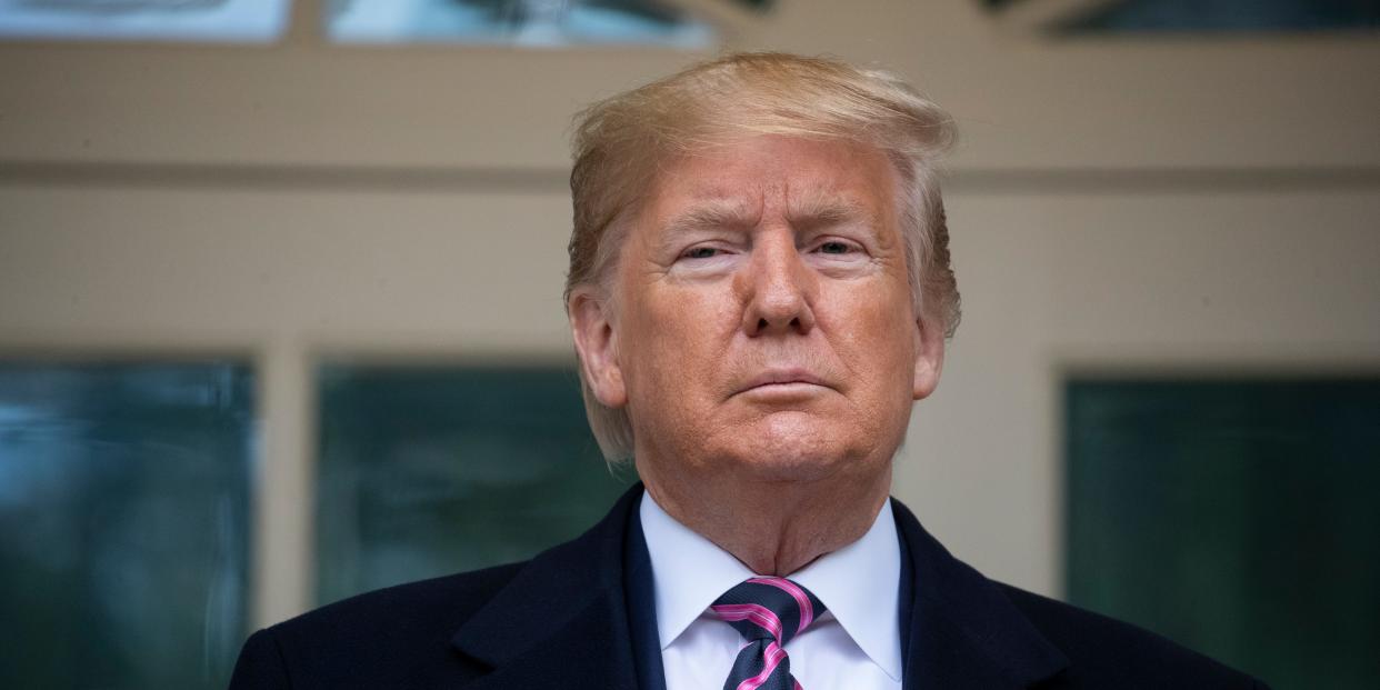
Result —
<instances>
[{"instance_id":1,"label":"right-hand lapel of the man's dark navy overcoat","mask_svg":"<svg viewBox=\"0 0 1380 690\"><path fill-rule=\"evenodd\" d=\"M915 689L1024 689L1068 660L978 571L891 501L911 569L905 679ZM903 611L903 615L907 615Z\"/></svg>"}]
</instances>

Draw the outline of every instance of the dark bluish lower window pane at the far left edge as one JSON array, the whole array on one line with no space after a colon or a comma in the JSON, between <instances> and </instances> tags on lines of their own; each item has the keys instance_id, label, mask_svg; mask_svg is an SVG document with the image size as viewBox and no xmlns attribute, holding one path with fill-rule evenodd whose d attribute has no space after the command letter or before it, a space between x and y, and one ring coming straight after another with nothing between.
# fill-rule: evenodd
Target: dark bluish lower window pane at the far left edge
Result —
<instances>
[{"instance_id":1,"label":"dark bluish lower window pane at the far left edge","mask_svg":"<svg viewBox=\"0 0 1380 690\"><path fill-rule=\"evenodd\" d=\"M253 375L0 363L0 687L224 687L246 635Z\"/></svg>"}]
</instances>

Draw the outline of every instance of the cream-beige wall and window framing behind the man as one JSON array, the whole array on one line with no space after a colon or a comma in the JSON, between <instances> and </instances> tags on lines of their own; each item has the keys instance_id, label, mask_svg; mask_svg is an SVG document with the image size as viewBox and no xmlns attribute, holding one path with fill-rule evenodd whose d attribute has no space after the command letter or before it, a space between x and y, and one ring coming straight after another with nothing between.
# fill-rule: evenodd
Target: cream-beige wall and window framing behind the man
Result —
<instances>
[{"instance_id":1,"label":"cream-beige wall and window framing behind the man","mask_svg":"<svg viewBox=\"0 0 1380 690\"><path fill-rule=\"evenodd\" d=\"M959 120L965 323L896 493L1061 582L1058 382L1380 370L1380 41L1043 40L978 3L782 0L738 47L876 61ZM0 46L0 352L264 371L257 604L309 603L308 366L569 357L570 115L669 51Z\"/></svg>"}]
</instances>

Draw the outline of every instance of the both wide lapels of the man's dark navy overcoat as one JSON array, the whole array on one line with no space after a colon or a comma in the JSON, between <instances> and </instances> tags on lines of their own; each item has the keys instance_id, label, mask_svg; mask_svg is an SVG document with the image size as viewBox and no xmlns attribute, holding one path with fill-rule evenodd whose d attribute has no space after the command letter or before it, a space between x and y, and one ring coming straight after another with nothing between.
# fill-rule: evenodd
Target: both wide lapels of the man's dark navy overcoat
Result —
<instances>
[{"instance_id":1,"label":"both wide lapels of the man's dark navy overcoat","mask_svg":"<svg viewBox=\"0 0 1380 690\"><path fill-rule=\"evenodd\" d=\"M638 687L624 563L640 497L639 483L455 632L457 650L494 668L472 687ZM891 508L911 573L901 611L907 689L1024 689L1068 667L994 582L949 555L900 501Z\"/></svg>"}]
</instances>

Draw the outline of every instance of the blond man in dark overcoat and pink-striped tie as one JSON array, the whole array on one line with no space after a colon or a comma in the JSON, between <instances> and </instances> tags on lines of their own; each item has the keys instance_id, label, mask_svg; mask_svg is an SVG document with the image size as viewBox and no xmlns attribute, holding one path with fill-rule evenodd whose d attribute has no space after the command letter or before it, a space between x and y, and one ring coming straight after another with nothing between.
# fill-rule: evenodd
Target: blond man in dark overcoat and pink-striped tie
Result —
<instances>
[{"instance_id":1,"label":"blond man in dark overcoat and pink-striped tie","mask_svg":"<svg viewBox=\"0 0 1380 690\"><path fill-rule=\"evenodd\" d=\"M730 55L575 134L567 308L644 483L529 563L255 633L233 687L1259 687L985 580L889 500L958 323L934 161L891 76Z\"/></svg>"}]
</instances>

